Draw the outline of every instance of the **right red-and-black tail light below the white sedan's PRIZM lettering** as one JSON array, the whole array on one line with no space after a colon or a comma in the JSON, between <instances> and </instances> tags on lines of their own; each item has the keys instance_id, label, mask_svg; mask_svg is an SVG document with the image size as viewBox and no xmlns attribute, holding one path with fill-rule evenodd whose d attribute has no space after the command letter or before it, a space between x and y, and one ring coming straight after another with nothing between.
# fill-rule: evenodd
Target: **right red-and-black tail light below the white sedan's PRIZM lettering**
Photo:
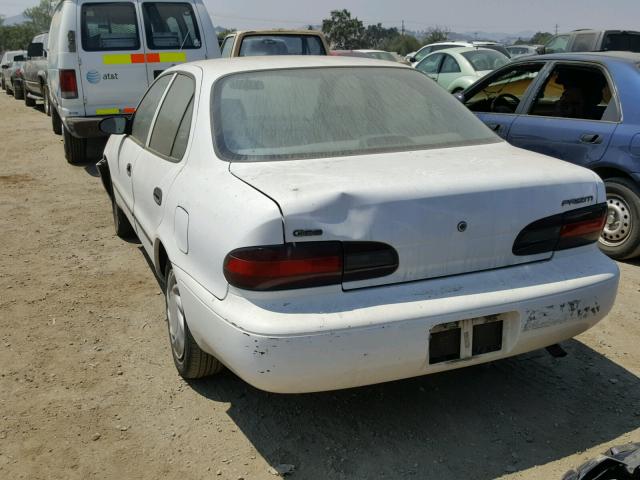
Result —
<instances>
[{"instance_id":1,"label":"right red-and-black tail light below the white sedan's PRIZM lettering","mask_svg":"<svg viewBox=\"0 0 640 480\"><path fill-rule=\"evenodd\" d=\"M513 244L513 254L536 255L595 243L606 218L606 203L543 218L520 232Z\"/></svg>"}]
</instances>

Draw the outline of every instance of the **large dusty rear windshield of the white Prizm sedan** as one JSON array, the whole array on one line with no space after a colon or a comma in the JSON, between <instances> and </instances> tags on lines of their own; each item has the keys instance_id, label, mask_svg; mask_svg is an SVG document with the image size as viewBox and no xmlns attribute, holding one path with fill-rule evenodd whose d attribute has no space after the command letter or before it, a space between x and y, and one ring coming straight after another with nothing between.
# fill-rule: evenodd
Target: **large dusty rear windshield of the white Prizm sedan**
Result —
<instances>
[{"instance_id":1,"label":"large dusty rear windshield of the white Prizm sedan","mask_svg":"<svg viewBox=\"0 0 640 480\"><path fill-rule=\"evenodd\" d=\"M421 73L393 67L243 72L218 80L214 141L231 161L424 150L499 141Z\"/></svg>"}]
</instances>

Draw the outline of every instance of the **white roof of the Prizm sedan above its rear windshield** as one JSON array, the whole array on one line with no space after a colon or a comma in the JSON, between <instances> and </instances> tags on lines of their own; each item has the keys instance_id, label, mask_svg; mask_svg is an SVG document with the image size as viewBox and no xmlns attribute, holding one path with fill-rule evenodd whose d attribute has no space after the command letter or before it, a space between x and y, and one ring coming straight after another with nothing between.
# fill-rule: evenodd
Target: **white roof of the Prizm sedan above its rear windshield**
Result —
<instances>
[{"instance_id":1,"label":"white roof of the Prizm sedan above its rear windshield","mask_svg":"<svg viewBox=\"0 0 640 480\"><path fill-rule=\"evenodd\" d=\"M345 57L332 55L267 55L260 57L216 58L176 65L167 71L186 70L188 67L200 68L206 78L220 78L231 73L260 70L284 70L297 68L331 67L382 67L412 68L401 63L364 57Z\"/></svg>"}]
</instances>

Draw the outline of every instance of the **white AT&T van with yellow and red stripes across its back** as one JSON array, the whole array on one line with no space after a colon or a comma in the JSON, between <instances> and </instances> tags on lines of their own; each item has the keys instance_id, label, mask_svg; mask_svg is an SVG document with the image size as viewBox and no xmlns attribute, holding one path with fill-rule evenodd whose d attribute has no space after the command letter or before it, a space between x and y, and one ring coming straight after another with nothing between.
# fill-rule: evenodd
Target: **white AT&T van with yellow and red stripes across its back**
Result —
<instances>
[{"instance_id":1,"label":"white AT&T van with yellow and red stripes across its back","mask_svg":"<svg viewBox=\"0 0 640 480\"><path fill-rule=\"evenodd\" d=\"M67 160L78 163L102 154L104 116L131 116L160 72L220 49L202 0L63 0L48 53L45 105Z\"/></svg>"}]
</instances>

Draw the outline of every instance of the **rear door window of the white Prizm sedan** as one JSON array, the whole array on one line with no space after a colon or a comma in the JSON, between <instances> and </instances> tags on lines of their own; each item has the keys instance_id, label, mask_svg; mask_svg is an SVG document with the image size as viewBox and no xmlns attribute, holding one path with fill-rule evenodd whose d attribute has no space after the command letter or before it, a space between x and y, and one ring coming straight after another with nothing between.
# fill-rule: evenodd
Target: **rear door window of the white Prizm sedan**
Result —
<instances>
[{"instance_id":1,"label":"rear door window of the white Prizm sedan","mask_svg":"<svg viewBox=\"0 0 640 480\"><path fill-rule=\"evenodd\" d=\"M191 128L190 111L193 110L190 106L194 93L193 79L177 75L158 112L149 141L150 150L175 161L182 160Z\"/></svg>"}]
</instances>

